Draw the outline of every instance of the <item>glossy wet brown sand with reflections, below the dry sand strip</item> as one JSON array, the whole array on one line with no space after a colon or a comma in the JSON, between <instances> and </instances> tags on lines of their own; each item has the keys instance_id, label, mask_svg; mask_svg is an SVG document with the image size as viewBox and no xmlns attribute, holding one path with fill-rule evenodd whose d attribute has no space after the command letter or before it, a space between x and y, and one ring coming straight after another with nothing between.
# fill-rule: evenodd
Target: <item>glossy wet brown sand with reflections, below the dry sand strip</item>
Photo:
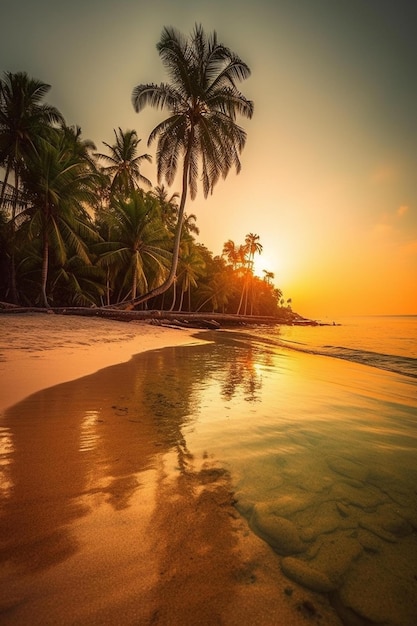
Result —
<instances>
[{"instance_id":1,"label":"glossy wet brown sand with reflections, below the dry sand strip","mask_svg":"<svg viewBox=\"0 0 417 626\"><path fill-rule=\"evenodd\" d=\"M144 353L5 413L2 624L295 624L311 607L339 623L248 531L227 469L187 447L209 372L226 395L260 388L250 353L216 359Z\"/></svg>"}]
</instances>

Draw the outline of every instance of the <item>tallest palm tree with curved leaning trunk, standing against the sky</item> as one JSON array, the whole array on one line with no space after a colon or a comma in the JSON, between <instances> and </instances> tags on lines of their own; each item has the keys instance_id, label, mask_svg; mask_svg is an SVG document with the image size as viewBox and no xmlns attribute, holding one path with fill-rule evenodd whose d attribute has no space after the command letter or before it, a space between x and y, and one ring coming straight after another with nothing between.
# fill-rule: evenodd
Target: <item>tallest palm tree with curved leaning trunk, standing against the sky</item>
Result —
<instances>
[{"instance_id":1,"label":"tallest palm tree with curved leaning trunk, standing against the sky","mask_svg":"<svg viewBox=\"0 0 417 626\"><path fill-rule=\"evenodd\" d=\"M158 182L171 185L182 159L182 191L170 272L162 285L138 298L143 302L171 286L178 264L184 208L190 190L197 193L201 172L204 196L213 192L231 167L239 173L240 153L246 132L236 123L238 114L251 118L253 103L237 89L236 82L250 75L249 67L229 48L207 36L196 25L190 39L165 27L157 44L171 83L138 85L132 94L137 112L150 104L168 110L169 116L151 132L148 145L157 140Z\"/></svg>"}]
</instances>

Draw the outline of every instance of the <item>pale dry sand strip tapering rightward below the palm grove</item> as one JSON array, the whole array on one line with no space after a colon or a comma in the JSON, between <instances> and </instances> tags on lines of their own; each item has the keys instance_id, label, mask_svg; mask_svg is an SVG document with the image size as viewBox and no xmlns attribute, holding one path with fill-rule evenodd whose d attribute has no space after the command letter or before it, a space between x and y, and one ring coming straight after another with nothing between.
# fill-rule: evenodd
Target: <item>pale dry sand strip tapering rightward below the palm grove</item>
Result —
<instances>
[{"instance_id":1,"label":"pale dry sand strip tapering rightward below the palm grove","mask_svg":"<svg viewBox=\"0 0 417 626\"><path fill-rule=\"evenodd\" d=\"M40 336L30 344L25 341L25 334L28 330L30 332L30 321L40 318L44 338ZM6 320L9 324L17 322L9 329L13 335L21 334L22 340L17 345L15 338L7 336ZM56 334L57 320L60 334ZM82 335L91 324L97 327L94 344L83 342L82 336L76 335ZM127 324L110 319L38 312L0 315L0 330L0 414L32 393L124 363L135 354L202 343L195 337L196 329L153 326L146 321Z\"/></svg>"}]
</instances>

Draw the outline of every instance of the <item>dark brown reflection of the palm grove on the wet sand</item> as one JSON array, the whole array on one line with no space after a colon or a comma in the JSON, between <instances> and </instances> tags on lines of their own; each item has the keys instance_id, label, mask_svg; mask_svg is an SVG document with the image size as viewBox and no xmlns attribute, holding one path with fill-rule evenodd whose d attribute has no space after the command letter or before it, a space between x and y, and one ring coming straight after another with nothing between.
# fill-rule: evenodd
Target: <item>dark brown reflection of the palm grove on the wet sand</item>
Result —
<instances>
[{"instance_id":1,"label":"dark brown reflection of the palm grove on the wet sand","mask_svg":"<svg viewBox=\"0 0 417 626\"><path fill-rule=\"evenodd\" d=\"M196 485L229 480L188 448L188 429L204 410L199 390L211 382L218 389L220 380L221 402L236 395L257 401L259 366L268 358L219 333L215 343L143 353L9 409L2 423L13 444L12 488L0 507L3 559L27 571L64 561L81 547L74 522L106 505L115 512L137 505L149 470L159 476L157 500L184 485L181 497L191 498ZM168 453L176 455L175 487L164 482Z\"/></svg>"}]
</instances>

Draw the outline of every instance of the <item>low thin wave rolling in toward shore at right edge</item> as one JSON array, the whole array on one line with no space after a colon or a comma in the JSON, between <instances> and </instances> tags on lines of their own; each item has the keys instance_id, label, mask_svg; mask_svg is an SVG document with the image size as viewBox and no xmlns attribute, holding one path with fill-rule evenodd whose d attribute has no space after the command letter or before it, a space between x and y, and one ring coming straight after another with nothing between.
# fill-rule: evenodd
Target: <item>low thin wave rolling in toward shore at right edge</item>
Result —
<instances>
[{"instance_id":1,"label":"low thin wave rolling in toward shore at right edge","mask_svg":"<svg viewBox=\"0 0 417 626\"><path fill-rule=\"evenodd\" d=\"M287 341L285 339L281 339L279 343L287 348L291 348L292 350L297 350L298 352L331 356L337 359L344 359L345 361L360 363L361 365L377 367L395 374L402 374L404 376L417 378L417 359L412 357L381 354L378 352L370 352L369 350L345 348L343 346L309 346L307 344Z\"/></svg>"}]
</instances>

